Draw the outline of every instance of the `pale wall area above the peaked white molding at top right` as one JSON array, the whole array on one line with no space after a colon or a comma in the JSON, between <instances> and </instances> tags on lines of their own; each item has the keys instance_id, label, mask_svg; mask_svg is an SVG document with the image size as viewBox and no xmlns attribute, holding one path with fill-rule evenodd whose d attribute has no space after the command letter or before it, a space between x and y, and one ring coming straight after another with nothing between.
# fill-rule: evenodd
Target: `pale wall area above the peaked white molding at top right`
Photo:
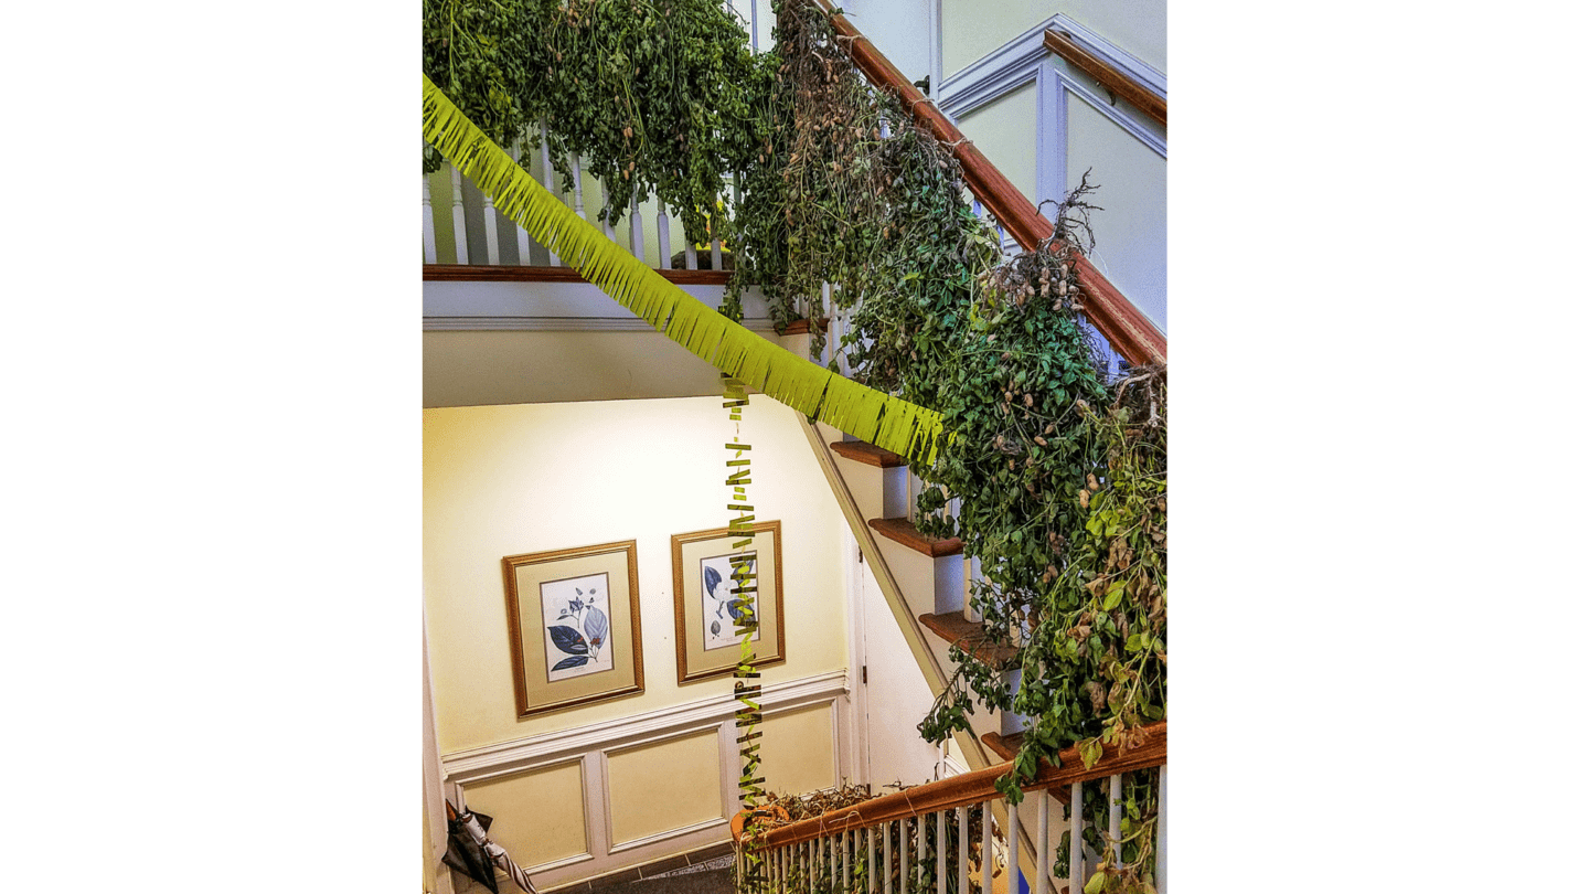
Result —
<instances>
[{"instance_id":1,"label":"pale wall area above the peaked white molding at top right","mask_svg":"<svg viewBox=\"0 0 1589 894\"><path fill-rule=\"evenodd\" d=\"M1168 0L944 0L944 76L1063 13L1109 43L1170 73Z\"/></svg>"}]
</instances>

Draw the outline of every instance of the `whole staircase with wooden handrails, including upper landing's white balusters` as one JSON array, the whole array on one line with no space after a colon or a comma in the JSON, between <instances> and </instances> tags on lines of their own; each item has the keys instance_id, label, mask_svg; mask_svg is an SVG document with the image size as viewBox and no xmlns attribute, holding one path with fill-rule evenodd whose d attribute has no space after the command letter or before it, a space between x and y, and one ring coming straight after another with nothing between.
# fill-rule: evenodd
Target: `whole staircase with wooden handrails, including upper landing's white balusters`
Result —
<instances>
[{"instance_id":1,"label":"whole staircase with wooden handrails, including upper landing's white balusters","mask_svg":"<svg viewBox=\"0 0 1589 894\"><path fill-rule=\"evenodd\" d=\"M820 0L814 2L826 6ZM942 113L925 102L920 91L882 57L844 16L834 14L833 21L858 68L876 86L899 94L922 124L953 146L965 172L966 186L977 199L977 212L992 220L1003 232L1009 232L1023 248L1036 250L1052 232L1052 223L1038 213L1038 208ZM550 186L550 164L545 157L540 159L539 170L547 177ZM443 172L440 177L448 177L448 173ZM447 223L453 226L447 229L448 237L453 239L454 266L437 262L445 255L445 251L439 251L437 223L445 218L437 215L431 204L431 181L421 183L424 278L429 283L574 282L561 267L561 261L547 253L545 248L529 242L523 231L499 229L502 221L497 220L496 210L488 200L477 199L481 204L480 232L474 232L474 227L464 220L464 186L459 185L456 170L451 170L450 177L453 216ZM578 191L574 196L574 207L583 212ZM721 285L726 282L726 275L721 272L721 247L713 243L709 250L702 248L702 256L698 256L696 247L685 247L686 269L675 270L671 264L671 221L666 215L656 216L653 253L645 235L648 218L650 212L642 212L639 207L629 210L624 235L632 255L659 267L666 278L682 288L696 291L699 286L715 286L717 294L721 294ZM451 237L451 234L458 235ZM618 239L618 232L610 226L607 226L607 235ZM480 243L478 250L477 243ZM704 258L707 253L710 253L709 262ZM508 258L513 264L502 264ZM480 264L481 259L486 262ZM701 270L707 266L710 270ZM1166 361L1168 340L1165 336L1096 269L1085 261L1079 264L1079 269L1087 297L1084 307L1100 337L1130 363ZM435 290L434 286L427 294L448 296L445 288ZM435 305L440 307L440 302ZM826 301L815 299L801 312L810 323L802 321L806 325L779 332L780 344L804 355L809 347L810 326L823 326L826 321L831 350L831 345L837 342L839 328L844 326L842 315L836 313ZM486 312L477 313L489 317ZM437 313L435 317L443 315ZM756 318L750 318L747 325L760 329L756 321ZM453 326L470 328L466 325ZM771 332L766 334L774 337ZM910 655L930 687L934 692L942 692L947 686L953 673L950 659L953 646L960 646L995 667L1009 662L1014 657L1014 649L984 644L982 619L969 608L968 592L979 576L976 562L963 555L963 544L958 539L933 538L917 528L912 512L922 482L910 474L901 457L855 441L818 422L807 420L806 431L836 503L844 512L909 644ZM1006 674L1006 684L1019 686L1017 674L1019 671ZM1158 783L1158 862L1152 878L1158 894L1168 892L1166 724L1149 727L1147 746L1130 752L1106 748L1103 760L1087 770L1082 770L1082 762L1074 749L1065 752L1061 756L1063 765L1060 768L1044 767L1036 783L1028 787L1033 797L1025 799L1017 808L1001 800L993 787L993 779L1007 773L1007 762L1020 746L1025 717L1009 711L982 713L974 714L971 722L974 735L957 733L957 744L972 765L969 773L775 829L760 846L740 851L740 877L756 872L769 884L769 891L780 894L793 891L823 891L826 894L899 891L899 894L906 894L907 891L934 889L938 894L947 894L950 889L969 894L972 888L988 894L993 891L996 864L999 862L995 854L1003 851L1001 859L1006 864L1003 881L1011 894L1020 892L1023 880L1030 880L1025 886L1036 892L1046 892L1050 888L1066 891L1068 888L1071 894L1081 894L1082 883L1096 867L1109 864L1111 859L1119 861L1119 845L1115 845L1112 856L1092 853L1082 845L1082 783L1109 779L1111 803L1114 803L1123 773L1163 767ZM1063 873L1063 880L1052 877L1049 865L1055 846L1055 838L1050 834L1050 826L1057 826L1057 822L1050 822L1055 803L1060 805L1058 818L1069 819L1071 865ZM1117 803L1111 810L1111 838L1120 838L1120 808ZM1014 851L1014 861L1011 853L998 843L999 840L1020 845ZM752 857L750 854L760 856ZM761 862L752 865L755 861ZM656 888L656 894L674 889L701 891L707 889L706 884L715 884L715 880L706 878L706 873L699 875L702 878L688 881L683 880L686 877L679 877L680 881L672 881L671 877L644 880L624 884L621 891L640 894L642 889L634 888L634 884L647 883L672 886ZM974 875L980 875L980 881L976 881ZM747 888L742 884L740 889ZM653 889L644 891L650 894Z\"/></svg>"}]
</instances>

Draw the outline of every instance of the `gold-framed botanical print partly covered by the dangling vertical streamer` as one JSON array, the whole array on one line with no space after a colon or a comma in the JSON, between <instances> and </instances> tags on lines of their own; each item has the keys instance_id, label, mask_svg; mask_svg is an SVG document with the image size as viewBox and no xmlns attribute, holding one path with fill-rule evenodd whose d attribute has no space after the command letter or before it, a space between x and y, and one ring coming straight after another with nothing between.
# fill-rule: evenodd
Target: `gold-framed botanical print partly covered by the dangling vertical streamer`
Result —
<instances>
[{"instance_id":1,"label":"gold-framed botanical print partly covered by the dangling vertical streamer","mask_svg":"<svg viewBox=\"0 0 1589 894\"><path fill-rule=\"evenodd\" d=\"M728 528L674 534L674 643L679 682L733 673L739 667L742 619L756 622L752 635L753 667L783 662L783 527L763 522L750 528L752 544ZM731 557L748 554L755 592L736 601Z\"/></svg>"}]
</instances>

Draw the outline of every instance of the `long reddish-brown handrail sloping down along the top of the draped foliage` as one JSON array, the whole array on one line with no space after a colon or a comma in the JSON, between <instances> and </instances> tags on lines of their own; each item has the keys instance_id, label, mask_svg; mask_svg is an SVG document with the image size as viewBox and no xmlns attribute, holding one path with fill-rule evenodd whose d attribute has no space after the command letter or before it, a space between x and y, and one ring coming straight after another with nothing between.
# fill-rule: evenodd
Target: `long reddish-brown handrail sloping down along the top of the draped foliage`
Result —
<instances>
[{"instance_id":1,"label":"long reddish-brown handrail sloping down along the top of the draped foliage","mask_svg":"<svg viewBox=\"0 0 1589 894\"><path fill-rule=\"evenodd\" d=\"M1022 248L1031 251L1054 235L1054 221L1042 216L1038 207L993 167L982 150L966 140L966 135L936 105L928 102L922 91L872 46L872 41L866 40L866 35L842 14L836 14L828 0L810 2L833 21L833 30L841 38L839 43L849 49L850 59L866 75L866 80L879 89L898 94L910 115L933 137L950 146L955 159L960 161L960 170L971 194L993 212L993 216L1009 229ZM1133 364L1170 361L1170 339L1135 304L1127 301L1120 290L1114 288L1093 267L1092 261L1077 255L1076 272L1082 293L1087 296L1087 301L1082 302L1082 312L1127 361Z\"/></svg>"}]
</instances>

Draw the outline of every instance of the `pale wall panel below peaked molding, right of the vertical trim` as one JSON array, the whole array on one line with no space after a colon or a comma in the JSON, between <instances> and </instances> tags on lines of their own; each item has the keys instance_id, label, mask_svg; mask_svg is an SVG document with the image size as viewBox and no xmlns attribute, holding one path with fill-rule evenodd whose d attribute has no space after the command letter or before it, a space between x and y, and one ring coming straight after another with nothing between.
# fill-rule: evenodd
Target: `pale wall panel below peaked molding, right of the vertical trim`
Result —
<instances>
[{"instance_id":1,"label":"pale wall panel below peaked molding, right of the vertical trim","mask_svg":"<svg viewBox=\"0 0 1589 894\"><path fill-rule=\"evenodd\" d=\"M1170 332L1170 164L1096 108L1066 95L1065 186L1092 169L1093 264L1162 331Z\"/></svg>"}]
</instances>

